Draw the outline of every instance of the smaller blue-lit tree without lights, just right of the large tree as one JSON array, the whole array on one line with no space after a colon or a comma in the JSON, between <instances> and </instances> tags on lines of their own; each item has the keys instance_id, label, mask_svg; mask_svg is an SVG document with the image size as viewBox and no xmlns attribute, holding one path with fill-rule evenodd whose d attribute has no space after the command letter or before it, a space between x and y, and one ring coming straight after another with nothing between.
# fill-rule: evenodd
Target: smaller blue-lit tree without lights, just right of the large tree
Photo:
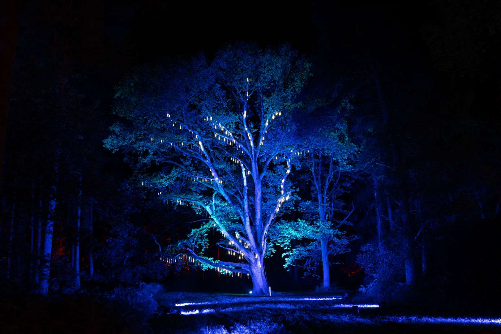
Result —
<instances>
[{"instance_id":1,"label":"smaller blue-lit tree without lights, just right of the large tree","mask_svg":"<svg viewBox=\"0 0 501 334\"><path fill-rule=\"evenodd\" d=\"M351 109L349 101L329 105L329 101L317 102L310 117L301 122L305 129L301 142L307 152L301 163L309 172L305 180L311 181L313 200L301 202L303 219L280 221L272 233L274 241L285 249L285 267L299 264L306 274L315 274L322 265L323 289L331 284L329 257L349 251L348 244L354 239L340 227L351 224L348 218L355 209L353 203L346 205L343 194L349 192L358 175L356 159L360 150L350 141L343 116ZM293 240L301 243L294 246Z\"/></svg>"}]
</instances>

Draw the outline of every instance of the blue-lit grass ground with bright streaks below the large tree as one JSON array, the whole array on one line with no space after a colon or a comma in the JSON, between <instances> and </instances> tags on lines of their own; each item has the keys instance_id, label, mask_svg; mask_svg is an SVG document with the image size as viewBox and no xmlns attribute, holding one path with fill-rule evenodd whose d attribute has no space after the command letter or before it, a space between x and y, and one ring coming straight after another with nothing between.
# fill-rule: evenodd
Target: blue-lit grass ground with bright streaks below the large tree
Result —
<instances>
[{"instance_id":1,"label":"blue-lit grass ground with bright streaks below the large tree","mask_svg":"<svg viewBox=\"0 0 501 334\"><path fill-rule=\"evenodd\" d=\"M168 292L164 313L150 321L160 333L501 333L501 318L416 315L399 309L359 308L338 295ZM360 304L360 303L358 303Z\"/></svg>"}]
</instances>

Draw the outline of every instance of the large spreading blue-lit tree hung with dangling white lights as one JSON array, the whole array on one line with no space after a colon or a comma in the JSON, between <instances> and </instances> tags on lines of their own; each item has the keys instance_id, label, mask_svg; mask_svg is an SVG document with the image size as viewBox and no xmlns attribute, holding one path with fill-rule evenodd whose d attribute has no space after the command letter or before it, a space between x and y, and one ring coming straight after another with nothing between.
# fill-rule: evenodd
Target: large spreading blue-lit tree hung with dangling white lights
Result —
<instances>
[{"instance_id":1,"label":"large spreading blue-lit tree hung with dangling white lights","mask_svg":"<svg viewBox=\"0 0 501 334\"><path fill-rule=\"evenodd\" d=\"M308 62L288 46L238 44L210 64L200 56L143 69L116 92L115 113L124 122L105 146L126 153L137 184L207 215L180 243L190 262L248 274L256 294L268 292L267 231L290 208L287 176L304 154L292 120L308 76ZM210 228L237 261L203 256Z\"/></svg>"}]
</instances>

